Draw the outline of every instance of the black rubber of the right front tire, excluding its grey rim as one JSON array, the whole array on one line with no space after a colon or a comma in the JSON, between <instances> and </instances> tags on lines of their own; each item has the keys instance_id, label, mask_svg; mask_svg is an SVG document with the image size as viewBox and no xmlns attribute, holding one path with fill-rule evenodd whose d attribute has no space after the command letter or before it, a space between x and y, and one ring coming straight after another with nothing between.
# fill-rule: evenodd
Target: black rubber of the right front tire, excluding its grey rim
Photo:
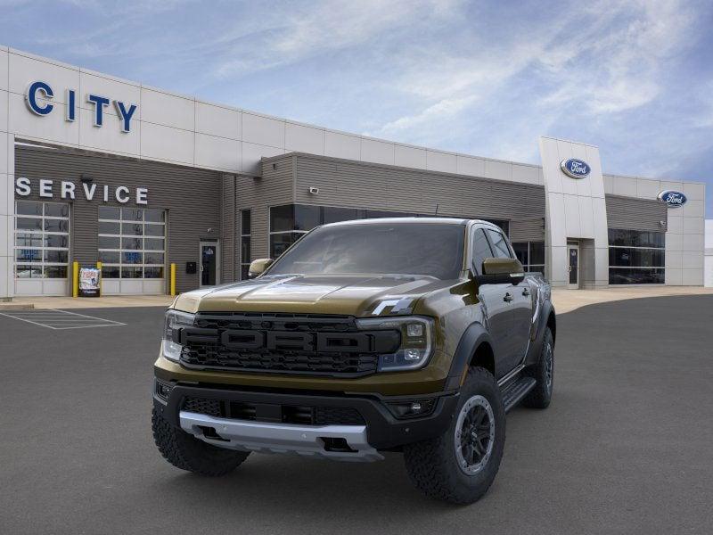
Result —
<instances>
[{"instance_id":1,"label":"black rubber of the right front tire, excluding its grey rim","mask_svg":"<svg viewBox=\"0 0 713 535\"><path fill-rule=\"evenodd\" d=\"M495 416L493 449L478 473L468 475L458 465L455 428L458 415L473 396L488 400ZM505 408L495 377L488 370L473 367L460 391L457 407L447 432L435 439L404 447L406 471L414 485L431 498L454 504L471 504L481 498L496 478L505 444Z\"/></svg>"}]
</instances>

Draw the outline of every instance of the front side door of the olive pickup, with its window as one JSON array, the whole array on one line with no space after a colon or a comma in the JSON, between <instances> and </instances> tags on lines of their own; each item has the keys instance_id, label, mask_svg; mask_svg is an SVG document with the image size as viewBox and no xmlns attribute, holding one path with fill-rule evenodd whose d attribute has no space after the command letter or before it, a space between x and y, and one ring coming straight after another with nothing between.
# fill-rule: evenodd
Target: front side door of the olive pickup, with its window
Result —
<instances>
[{"instance_id":1,"label":"front side door of the olive pickup, with its window","mask_svg":"<svg viewBox=\"0 0 713 535\"><path fill-rule=\"evenodd\" d=\"M493 254L488 238L482 228L476 228L471 235L472 268L482 275L483 260L492 258ZM506 361L510 354L511 308L506 300L508 288L512 284L480 284L478 298L488 319L488 332L493 340L496 360L496 379L507 373Z\"/></svg>"}]
</instances>

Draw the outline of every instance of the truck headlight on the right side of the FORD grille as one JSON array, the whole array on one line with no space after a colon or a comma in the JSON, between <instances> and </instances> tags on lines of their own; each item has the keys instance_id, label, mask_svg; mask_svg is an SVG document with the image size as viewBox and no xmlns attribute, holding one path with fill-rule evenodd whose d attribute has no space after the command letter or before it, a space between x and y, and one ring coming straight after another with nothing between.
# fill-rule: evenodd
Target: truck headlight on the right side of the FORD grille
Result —
<instances>
[{"instance_id":1,"label":"truck headlight on the right side of the FORD grille","mask_svg":"<svg viewBox=\"0 0 713 535\"><path fill-rule=\"evenodd\" d=\"M395 353L379 356L379 371L415 370L426 366L433 350L433 320L430 317L370 317L357 319L360 329L389 330L401 333Z\"/></svg>"}]
</instances>

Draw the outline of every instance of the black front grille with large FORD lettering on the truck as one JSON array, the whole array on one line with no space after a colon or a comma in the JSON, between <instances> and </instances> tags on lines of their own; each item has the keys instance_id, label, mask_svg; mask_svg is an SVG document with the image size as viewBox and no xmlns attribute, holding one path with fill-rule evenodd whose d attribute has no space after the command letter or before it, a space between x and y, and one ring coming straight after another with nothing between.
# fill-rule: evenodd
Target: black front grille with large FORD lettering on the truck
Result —
<instances>
[{"instance_id":1,"label":"black front grille with large FORD lettering on the truck","mask_svg":"<svg viewBox=\"0 0 713 535\"><path fill-rule=\"evenodd\" d=\"M184 366L283 374L358 376L393 352L397 331L360 331L354 317L199 314L181 330Z\"/></svg>"}]
</instances>

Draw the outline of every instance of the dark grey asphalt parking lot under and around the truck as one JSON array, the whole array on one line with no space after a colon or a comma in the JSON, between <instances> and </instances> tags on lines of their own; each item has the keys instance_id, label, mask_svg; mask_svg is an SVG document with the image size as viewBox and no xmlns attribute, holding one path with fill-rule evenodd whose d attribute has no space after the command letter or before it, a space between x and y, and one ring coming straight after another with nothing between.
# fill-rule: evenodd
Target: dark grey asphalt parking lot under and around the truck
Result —
<instances>
[{"instance_id":1,"label":"dark grey asphalt parking lot under and around the truck","mask_svg":"<svg viewBox=\"0 0 713 535\"><path fill-rule=\"evenodd\" d=\"M711 295L561 315L552 406L512 411L493 487L460 507L422 497L398 454L173 468L150 429L163 309L76 312L117 325L0 316L2 533L710 532Z\"/></svg>"}]
</instances>

